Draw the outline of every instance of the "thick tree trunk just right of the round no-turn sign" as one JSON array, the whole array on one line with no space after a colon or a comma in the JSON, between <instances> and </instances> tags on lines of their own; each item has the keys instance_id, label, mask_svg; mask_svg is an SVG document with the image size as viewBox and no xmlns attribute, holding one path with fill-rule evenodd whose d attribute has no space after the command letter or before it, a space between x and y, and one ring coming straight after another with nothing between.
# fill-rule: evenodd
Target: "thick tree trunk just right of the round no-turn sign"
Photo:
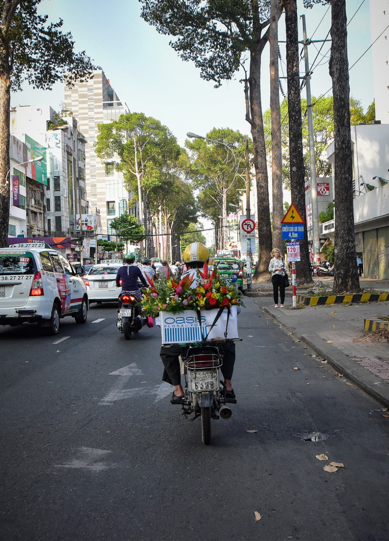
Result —
<instances>
[{"instance_id":1,"label":"thick tree trunk just right of the round no-turn sign","mask_svg":"<svg viewBox=\"0 0 389 541\"><path fill-rule=\"evenodd\" d=\"M266 166L266 147L260 95L260 62L264 43L257 42L251 51L250 60L250 113L251 135L254 147L254 169L257 182L258 208L258 264L256 274L268 272L270 252L272 250L272 234L270 221L269 180Z\"/></svg>"}]
</instances>

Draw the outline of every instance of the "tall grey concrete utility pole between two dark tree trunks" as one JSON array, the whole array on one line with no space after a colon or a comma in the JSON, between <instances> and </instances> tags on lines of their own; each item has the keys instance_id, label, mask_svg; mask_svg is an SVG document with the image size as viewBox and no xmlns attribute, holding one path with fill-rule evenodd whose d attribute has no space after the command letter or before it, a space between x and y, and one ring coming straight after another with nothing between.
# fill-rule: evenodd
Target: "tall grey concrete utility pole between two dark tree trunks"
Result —
<instances>
[{"instance_id":1,"label":"tall grey concrete utility pole between two dark tree trunks","mask_svg":"<svg viewBox=\"0 0 389 541\"><path fill-rule=\"evenodd\" d=\"M313 263L316 265L320 262L320 236L319 236L319 212L317 202L317 182L316 182L316 161L314 155L314 138L313 138L313 117L312 117L312 98L311 98L311 74L309 71L308 62L308 41L306 35L305 15L301 15L303 19L303 37L304 37L304 59L305 59L305 84L307 96L307 117L308 117L308 141L310 153L310 174L311 174L311 206L312 206L312 247L313 247Z\"/></svg>"}]
</instances>

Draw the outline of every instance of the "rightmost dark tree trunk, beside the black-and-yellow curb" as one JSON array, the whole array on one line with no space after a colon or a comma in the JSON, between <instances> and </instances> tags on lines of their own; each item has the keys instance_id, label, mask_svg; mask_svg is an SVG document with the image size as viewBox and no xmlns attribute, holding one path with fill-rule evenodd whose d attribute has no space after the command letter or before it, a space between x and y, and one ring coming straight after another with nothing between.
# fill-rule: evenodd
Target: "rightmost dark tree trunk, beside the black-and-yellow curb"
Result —
<instances>
[{"instance_id":1,"label":"rightmost dark tree trunk, beside the black-and-yellow curb","mask_svg":"<svg viewBox=\"0 0 389 541\"><path fill-rule=\"evenodd\" d=\"M350 84L347 58L347 17L344 0L331 3L330 75L334 103L335 273L334 291L359 290L354 237Z\"/></svg>"}]
</instances>

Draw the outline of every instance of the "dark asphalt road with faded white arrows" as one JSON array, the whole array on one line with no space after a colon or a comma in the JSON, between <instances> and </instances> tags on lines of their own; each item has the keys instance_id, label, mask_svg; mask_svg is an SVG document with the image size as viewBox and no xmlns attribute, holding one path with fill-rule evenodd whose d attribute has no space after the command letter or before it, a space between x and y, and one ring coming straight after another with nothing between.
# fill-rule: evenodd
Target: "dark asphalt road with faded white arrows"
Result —
<instances>
[{"instance_id":1,"label":"dark asphalt road with faded white arrows","mask_svg":"<svg viewBox=\"0 0 389 541\"><path fill-rule=\"evenodd\" d=\"M157 329L125 341L112 305L57 337L1 328L1 541L387 541L389 418L245 304L210 446L169 403Z\"/></svg>"}]
</instances>

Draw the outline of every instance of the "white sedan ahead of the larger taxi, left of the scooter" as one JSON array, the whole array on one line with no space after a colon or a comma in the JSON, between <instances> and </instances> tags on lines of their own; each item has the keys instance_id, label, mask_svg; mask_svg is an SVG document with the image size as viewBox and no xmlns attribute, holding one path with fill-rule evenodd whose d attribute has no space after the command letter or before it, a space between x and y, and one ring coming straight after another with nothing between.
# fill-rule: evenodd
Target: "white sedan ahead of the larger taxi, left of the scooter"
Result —
<instances>
[{"instance_id":1,"label":"white sedan ahead of the larger taxi, left of the scooter","mask_svg":"<svg viewBox=\"0 0 389 541\"><path fill-rule=\"evenodd\" d=\"M88 291L89 302L114 302L118 300L121 287L116 287L116 275L122 265L98 263L83 276Z\"/></svg>"}]
</instances>

